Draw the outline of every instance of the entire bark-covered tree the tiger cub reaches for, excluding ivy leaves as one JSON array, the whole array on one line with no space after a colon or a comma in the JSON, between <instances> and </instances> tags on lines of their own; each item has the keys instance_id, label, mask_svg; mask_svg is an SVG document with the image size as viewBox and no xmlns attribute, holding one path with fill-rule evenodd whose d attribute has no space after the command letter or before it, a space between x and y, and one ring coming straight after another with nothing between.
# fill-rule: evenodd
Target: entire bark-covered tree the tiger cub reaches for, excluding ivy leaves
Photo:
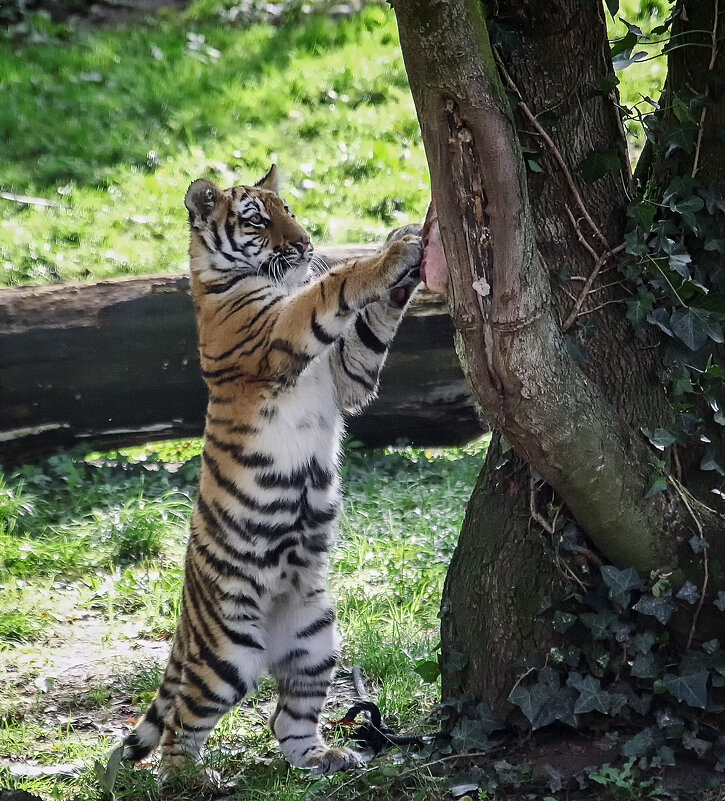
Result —
<instances>
[{"instance_id":1,"label":"entire bark-covered tree the tiger cub reaches for, excluding ivy leaves","mask_svg":"<svg viewBox=\"0 0 725 801\"><path fill-rule=\"evenodd\" d=\"M701 586L698 529L674 484L647 497L660 468L640 428L672 412L657 342L634 339L617 280L631 179L601 3L500 0L488 20L479 0L394 7L459 356L515 451L492 448L469 503L442 606L444 662L466 659L443 689L505 711L516 661L553 642L539 611L560 576L532 488L545 482L606 561ZM495 47L486 22L504 32ZM543 172L526 173L521 144ZM594 152L619 169L587 184L577 168ZM720 518L699 517L722 589Z\"/></svg>"}]
</instances>

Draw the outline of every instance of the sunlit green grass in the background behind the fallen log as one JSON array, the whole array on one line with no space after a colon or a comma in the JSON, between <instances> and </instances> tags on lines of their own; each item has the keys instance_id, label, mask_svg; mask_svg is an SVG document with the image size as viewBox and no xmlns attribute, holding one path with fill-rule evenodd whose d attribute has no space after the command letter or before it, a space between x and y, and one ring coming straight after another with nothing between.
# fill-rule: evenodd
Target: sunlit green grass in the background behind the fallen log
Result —
<instances>
[{"instance_id":1,"label":"sunlit green grass in the background behind the fallen log","mask_svg":"<svg viewBox=\"0 0 725 801\"><path fill-rule=\"evenodd\" d=\"M643 8L626 0L622 16L645 30L664 17L662 0ZM190 181L248 183L273 161L320 243L422 219L428 173L392 11L277 28L224 12L196 0L100 29L36 15L24 40L0 38L0 190L52 204L0 199L0 286L185 270ZM664 69L619 73L623 103L656 98Z\"/></svg>"}]
</instances>

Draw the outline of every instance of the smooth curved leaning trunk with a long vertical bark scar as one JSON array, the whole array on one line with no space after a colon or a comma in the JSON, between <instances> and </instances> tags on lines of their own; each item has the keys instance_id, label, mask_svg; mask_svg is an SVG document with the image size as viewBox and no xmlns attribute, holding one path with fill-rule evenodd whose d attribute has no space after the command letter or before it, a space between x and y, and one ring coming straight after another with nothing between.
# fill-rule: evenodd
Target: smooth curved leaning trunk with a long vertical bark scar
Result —
<instances>
[{"instance_id":1,"label":"smooth curved leaning trunk with a long vertical bark scar","mask_svg":"<svg viewBox=\"0 0 725 801\"><path fill-rule=\"evenodd\" d=\"M638 432L569 357L538 257L508 103L476 0L396 0L401 47L450 268L457 349L489 419L556 490L605 557L702 583L697 529ZM473 173L473 175L471 174ZM710 586L725 586L719 519Z\"/></svg>"}]
</instances>

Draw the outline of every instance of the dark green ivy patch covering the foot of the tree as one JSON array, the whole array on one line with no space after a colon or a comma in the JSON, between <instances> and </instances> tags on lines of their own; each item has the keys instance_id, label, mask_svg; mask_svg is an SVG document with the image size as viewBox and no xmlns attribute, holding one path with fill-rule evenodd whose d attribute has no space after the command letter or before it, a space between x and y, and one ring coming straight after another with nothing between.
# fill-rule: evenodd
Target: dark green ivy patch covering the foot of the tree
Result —
<instances>
[{"instance_id":1,"label":"dark green ivy patch covering the foot of the tree","mask_svg":"<svg viewBox=\"0 0 725 801\"><path fill-rule=\"evenodd\" d=\"M720 596L714 606L725 631ZM613 565L603 565L590 587L570 587L552 614L561 645L533 670L525 666L509 697L524 725L601 729L616 717L629 732L621 754L639 767L674 764L685 751L725 772L725 649L712 639L683 652L666 629L678 607L699 601L689 582L673 593L666 577Z\"/></svg>"}]
</instances>

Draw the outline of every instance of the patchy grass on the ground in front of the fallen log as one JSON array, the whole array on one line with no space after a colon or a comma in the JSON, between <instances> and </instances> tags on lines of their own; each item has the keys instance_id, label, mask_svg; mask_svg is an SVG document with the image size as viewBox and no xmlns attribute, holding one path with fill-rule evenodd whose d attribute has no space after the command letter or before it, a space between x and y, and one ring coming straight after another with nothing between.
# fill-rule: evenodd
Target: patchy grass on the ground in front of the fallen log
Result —
<instances>
[{"instance_id":1,"label":"patchy grass on the ground in front of the fallen log","mask_svg":"<svg viewBox=\"0 0 725 801\"><path fill-rule=\"evenodd\" d=\"M396 729L429 725L437 700L437 684L424 683L414 667L435 659L442 582L485 446L482 440L433 451L350 448L346 455L345 504L331 567L343 665L362 666ZM104 758L111 740L105 730L99 736L89 728L89 719L108 718L119 702L123 714L137 716L153 697L161 675L156 662L126 665L119 673L109 658L96 683L67 692L62 672L50 669L48 659L53 645L72 648L84 620L101 632L93 646L101 658L123 641L132 646L139 636L173 632L200 448L190 440L54 457L0 476L0 670L14 678L0 703L0 765L28 759L91 764ZM89 647L81 636L74 659ZM230 714L210 741L211 759L225 775L242 773L234 797L264 793L290 801L319 796L323 788L344 795L350 777L310 781L287 769L265 727L272 696L272 683L262 682L250 704ZM46 722L44 710L53 707L61 722L57 716ZM330 714L339 717L337 709ZM377 787L372 774L356 785L360 797ZM12 783L48 797L61 790L64 799L96 797L90 768L62 788L49 778ZM153 777L123 770L117 798L143 797L157 797Z\"/></svg>"}]
</instances>

